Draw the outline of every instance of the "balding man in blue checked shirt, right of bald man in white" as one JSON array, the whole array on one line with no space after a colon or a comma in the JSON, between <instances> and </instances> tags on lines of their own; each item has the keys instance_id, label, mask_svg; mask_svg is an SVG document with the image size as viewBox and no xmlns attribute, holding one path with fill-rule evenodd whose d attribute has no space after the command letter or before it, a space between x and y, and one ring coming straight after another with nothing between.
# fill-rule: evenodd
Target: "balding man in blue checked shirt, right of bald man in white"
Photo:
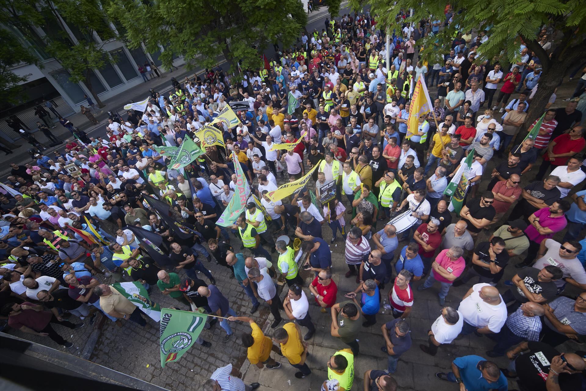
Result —
<instances>
[{"instance_id":1,"label":"balding man in blue checked shirt, right of bald man in white","mask_svg":"<svg viewBox=\"0 0 586 391\"><path fill-rule=\"evenodd\" d=\"M499 334L488 334L490 339L496 341L492 351L486 352L489 357L505 355L507 349L523 341L539 341L541 332L541 319L545 314L541 304L533 301L524 302L507 318L505 325Z\"/></svg>"}]
</instances>

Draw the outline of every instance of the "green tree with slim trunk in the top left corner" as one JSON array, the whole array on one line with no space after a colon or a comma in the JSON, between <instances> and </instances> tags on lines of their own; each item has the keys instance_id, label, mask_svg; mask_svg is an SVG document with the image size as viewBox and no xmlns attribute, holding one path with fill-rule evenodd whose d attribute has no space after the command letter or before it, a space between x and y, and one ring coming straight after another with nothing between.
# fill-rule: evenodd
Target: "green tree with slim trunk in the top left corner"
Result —
<instances>
[{"instance_id":1,"label":"green tree with slim trunk in the top left corner","mask_svg":"<svg viewBox=\"0 0 586 391\"><path fill-rule=\"evenodd\" d=\"M44 50L53 56L70 73L70 81L86 84L98 106L103 107L91 83L93 69L105 66L108 53L103 50L104 43L116 38L105 12L97 0L52 0L50 2L30 2L26 0L6 0L0 7L0 23L18 30L24 40L15 40L20 47L15 52L30 53L26 40L39 39L33 26L42 28L46 47ZM67 28L73 33L71 38ZM99 40L97 37L99 36ZM4 60L4 53L2 53ZM35 63L34 61L30 61Z\"/></svg>"}]
</instances>

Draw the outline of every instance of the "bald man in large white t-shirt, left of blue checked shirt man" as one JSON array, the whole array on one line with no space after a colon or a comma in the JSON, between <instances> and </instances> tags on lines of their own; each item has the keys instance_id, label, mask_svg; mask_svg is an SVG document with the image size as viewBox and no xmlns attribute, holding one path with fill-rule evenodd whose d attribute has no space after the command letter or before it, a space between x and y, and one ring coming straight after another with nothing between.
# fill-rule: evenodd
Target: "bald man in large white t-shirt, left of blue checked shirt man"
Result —
<instances>
[{"instance_id":1,"label":"bald man in large white t-shirt, left of blue checked shirt man","mask_svg":"<svg viewBox=\"0 0 586 391\"><path fill-rule=\"evenodd\" d=\"M498 289L485 283L475 284L468 290L458 311L464 317L462 335L497 334L507 319L507 306Z\"/></svg>"}]
</instances>

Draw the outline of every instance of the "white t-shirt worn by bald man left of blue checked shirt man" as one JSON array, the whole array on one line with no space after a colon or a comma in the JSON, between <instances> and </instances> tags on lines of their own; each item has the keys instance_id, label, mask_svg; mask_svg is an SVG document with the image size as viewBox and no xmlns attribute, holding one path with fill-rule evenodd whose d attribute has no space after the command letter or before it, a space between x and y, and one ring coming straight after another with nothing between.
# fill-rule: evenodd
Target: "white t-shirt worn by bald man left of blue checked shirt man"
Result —
<instances>
[{"instance_id":1,"label":"white t-shirt worn by bald man left of blue checked shirt man","mask_svg":"<svg viewBox=\"0 0 586 391\"><path fill-rule=\"evenodd\" d=\"M500 303L498 305L488 304L483 301L480 297L480 290L483 287L490 287L490 284L473 285L472 294L460 302L458 311L468 324L479 328L488 325L490 331L496 334L507 320L507 306L500 295Z\"/></svg>"}]
</instances>

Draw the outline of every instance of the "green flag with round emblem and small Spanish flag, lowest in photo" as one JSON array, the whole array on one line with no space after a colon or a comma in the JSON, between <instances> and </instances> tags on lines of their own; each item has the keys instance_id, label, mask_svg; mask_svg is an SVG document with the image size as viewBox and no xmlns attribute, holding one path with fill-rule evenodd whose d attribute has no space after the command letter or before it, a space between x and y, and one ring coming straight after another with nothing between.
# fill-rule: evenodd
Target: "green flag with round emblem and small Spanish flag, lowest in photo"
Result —
<instances>
[{"instance_id":1,"label":"green flag with round emblem and small Spanish flag, lowest in photo","mask_svg":"<svg viewBox=\"0 0 586 391\"><path fill-rule=\"evenodd\" d=\"M188 351L202 332L206 317L199 312L163 308L159 327L161 368L168 362L178 361Z\"/></svg>"}]
</instances>

